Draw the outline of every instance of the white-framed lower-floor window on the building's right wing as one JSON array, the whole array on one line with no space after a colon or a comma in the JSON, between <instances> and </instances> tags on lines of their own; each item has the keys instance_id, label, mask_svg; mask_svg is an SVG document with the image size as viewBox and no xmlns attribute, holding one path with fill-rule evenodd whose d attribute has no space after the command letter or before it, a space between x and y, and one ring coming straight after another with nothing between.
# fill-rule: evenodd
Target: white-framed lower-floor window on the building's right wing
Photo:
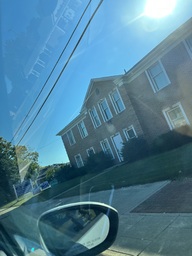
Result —
<instances>
[{"instance_id":1,"label":"white-framed lower-floor window on the building's right wing","mask_svg":"<svg viewBox=\"0 0 192 256\"><path fill-rule=\"evenodd\" d=\"M171 130L189 124L189 121L187 120L185 112L180 103L171 109L169 108L164 110L163 113Z\"/></svg>"}]
</instances>

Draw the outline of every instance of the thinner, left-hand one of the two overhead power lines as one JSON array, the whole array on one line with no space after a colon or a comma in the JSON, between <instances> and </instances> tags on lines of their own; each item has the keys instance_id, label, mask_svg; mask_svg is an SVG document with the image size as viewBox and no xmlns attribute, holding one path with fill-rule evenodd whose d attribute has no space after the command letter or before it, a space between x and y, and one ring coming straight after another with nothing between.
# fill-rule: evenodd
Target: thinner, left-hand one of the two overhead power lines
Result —
<instances>
[{"instance_id":1,"label":"thinner, left-hand one of the two overhead power lines","mask_svg":"<svg viewBox=\"0 0 192 256\"><path fill-rule=\"evenodd\" d=\"M43 90L45 89L45 86L47 85L47 83L48 83L50 77L52 76L54 70L56 69L56 67L57 67L59 61L61 60L61 57L63 56L63 54L64 54L66 48L68 47L68 45L69 45L69 43L70 43L70 41L72 40L72 37L73 37L73 35L75 34L75 32L76 32L76 30L77 30L79 24L81 23L81 20L83 19L83 17L84 17L84 15L85 15L85 13L86 13L86 11L87 11L89 5L91 4L91 2L92 2L92 0L90 0L89 3L87 4L87 6L85 7L85 9L84 9L84 11L83 11L83 13L82 13L82 15L81 15L81 17L80 17L80 19L79 19L77 25L75 26L75 28L74 28L74 30L73 30L71 36L69 37L69 39L68 39L68 41L67 41L67 43L66 43L66 45L65 45L65 47L64 47L64 49L63 49L63 51L61 52L61 54L60 54L58 60L56 61L55 65L53 66L53 68L52 68L52 70L51 70L51 73L48 75L48 77L47 77L47 79L46 79L46 81L45 81L43 87L41 88L40 92L38 93L36 99L34 100L33 104L31 105L29 111L27 112L27 114L25 115L23 121L21 122L21 124L20 124L19 127L17 128L17 131L14 133L13 138L11 139L11 142L14 140L14 138L16 137L16 135L18 134L18 132L20 131L21 127L23 126L23 124L24 124L25 121L27 120L29 114L31 113L32 109L34 108L34 106L35 106L37 100L39 99L40 95L42 94Z\"/></svg>"}]
</instances>

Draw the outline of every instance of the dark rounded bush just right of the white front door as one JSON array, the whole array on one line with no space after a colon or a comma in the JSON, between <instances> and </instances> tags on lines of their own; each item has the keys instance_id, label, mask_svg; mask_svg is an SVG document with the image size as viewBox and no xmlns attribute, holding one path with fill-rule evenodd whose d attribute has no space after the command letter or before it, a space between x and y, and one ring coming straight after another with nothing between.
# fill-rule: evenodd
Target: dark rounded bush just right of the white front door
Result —
<instances>
[{"instance_id":1,"label":"dark rounded bush just right of the white front door","mask_svg":"<svg viewBox=\"0 0 192 256\"><path fill-rule=\"evenodd\" d=\"M133 162L149 155L149 145L143 138L134 138L123 143L122 156L124 161Z\"/></svg>"}]
</instances>

